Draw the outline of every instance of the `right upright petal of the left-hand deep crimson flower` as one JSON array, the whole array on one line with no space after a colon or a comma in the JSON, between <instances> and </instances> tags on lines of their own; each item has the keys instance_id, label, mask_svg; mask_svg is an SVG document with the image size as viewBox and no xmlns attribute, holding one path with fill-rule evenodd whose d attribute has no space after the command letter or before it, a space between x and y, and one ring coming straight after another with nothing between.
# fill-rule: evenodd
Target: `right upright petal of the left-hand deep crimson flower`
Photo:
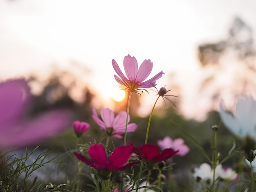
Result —
<instances>
[{"instance_id":1,"label":"right upright petal of the left-hand deep crimson flower","mask_svg":"<svg viewBox=\"0 0 256 192\"><path fill-rule=\"evenodd\" d=\"M121 146L115 148L108 162L108 169L117 170L127 163L132 154L132 149L129 146Z\"/></svg>"}]
</instances>

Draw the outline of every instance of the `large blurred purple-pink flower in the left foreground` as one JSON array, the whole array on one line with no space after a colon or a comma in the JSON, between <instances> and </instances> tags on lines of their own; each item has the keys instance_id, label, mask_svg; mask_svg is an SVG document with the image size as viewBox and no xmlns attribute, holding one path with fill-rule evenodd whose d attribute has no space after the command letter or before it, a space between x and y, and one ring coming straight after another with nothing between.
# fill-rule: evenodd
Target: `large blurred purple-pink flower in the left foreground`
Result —
<instances>
[{"instance_id":1,"label":"large blurred purple-pink flower in the left foreground","mask_svg":"<svg viewBox=\"0 0 256 192\"><path fill-rule=\"evenodd\" d=\"M70 123L69 114L54 110L34 118L25 116L31 105L25 79L0 83L0 147L22 147L61 132Z\"/></svg>"}]
</instances>

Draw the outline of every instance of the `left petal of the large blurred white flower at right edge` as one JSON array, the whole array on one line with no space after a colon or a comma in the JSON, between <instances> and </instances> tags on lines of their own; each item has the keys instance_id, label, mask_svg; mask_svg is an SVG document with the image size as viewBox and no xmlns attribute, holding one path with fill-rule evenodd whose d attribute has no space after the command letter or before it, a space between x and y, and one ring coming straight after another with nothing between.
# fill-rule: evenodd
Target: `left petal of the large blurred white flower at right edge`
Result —
<instances>
[{"instance_id":1,"label":"left petal of the large blurred white flower at right edge","mask_svg":"<svg viewBox=\"0 0 256 192\"><path fill-rule=\"evenodd\" d=\"M223 104L220 103L220 117L225 124L225 126L235 135L240 135L240 123L236 117L234 117L233 114L227 112ZM245 136L245 135L240 135L240 136Z\"/></svg>"}]
</instances>

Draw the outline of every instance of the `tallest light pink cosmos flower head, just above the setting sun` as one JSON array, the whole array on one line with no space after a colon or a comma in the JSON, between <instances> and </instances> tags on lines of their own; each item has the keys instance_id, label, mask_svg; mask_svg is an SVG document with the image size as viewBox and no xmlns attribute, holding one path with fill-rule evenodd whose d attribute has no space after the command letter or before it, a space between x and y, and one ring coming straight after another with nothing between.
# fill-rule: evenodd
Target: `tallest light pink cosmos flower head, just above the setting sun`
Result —
<instances>
[{"instance_id":1,"label":"tallest light pink cosmos flower head, just above the setting sun","mask_svg":"<svg viewBox=\"0 0 256 192\"><path fill-rule=\"evenodd\" d=\"M131 57L130 55L124 57L124 71L127 77L123 74L114 59L112 59L112 66L119 76L114 75L115 80L117 80L117 83L126 86L129 92L137 92L141 88L144 89L155 86L156 80L161 78L164 74L163 71L161 71L153 76L153 78L144 81L151 73L153 63L150 61L150 59L144 60L138 70L136 58Z\"/></svg>"}]
</instances>

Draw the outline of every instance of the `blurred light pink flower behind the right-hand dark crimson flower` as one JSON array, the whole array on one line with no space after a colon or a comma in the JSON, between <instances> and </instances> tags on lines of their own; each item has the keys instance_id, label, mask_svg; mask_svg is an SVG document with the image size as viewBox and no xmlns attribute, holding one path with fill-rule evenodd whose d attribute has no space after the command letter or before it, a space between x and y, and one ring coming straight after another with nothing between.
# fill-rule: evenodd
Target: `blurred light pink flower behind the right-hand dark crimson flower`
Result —
<instances>
[{"instance_id":1,"label":"blurred light pink flower behind the right-hand dark crimson flower","mask_svg":"<svg viewBox=\"0 0 256 192\"><path fill-rule=\"evenodd\" d=\"M158 140L157 145L161 150L172 148L173 150L179 150L177 155L184 156L189 152L189 147L184 145L184 140L182 138L171 139L166 136L163 140Z\"/></svg>"}]
</instances>

